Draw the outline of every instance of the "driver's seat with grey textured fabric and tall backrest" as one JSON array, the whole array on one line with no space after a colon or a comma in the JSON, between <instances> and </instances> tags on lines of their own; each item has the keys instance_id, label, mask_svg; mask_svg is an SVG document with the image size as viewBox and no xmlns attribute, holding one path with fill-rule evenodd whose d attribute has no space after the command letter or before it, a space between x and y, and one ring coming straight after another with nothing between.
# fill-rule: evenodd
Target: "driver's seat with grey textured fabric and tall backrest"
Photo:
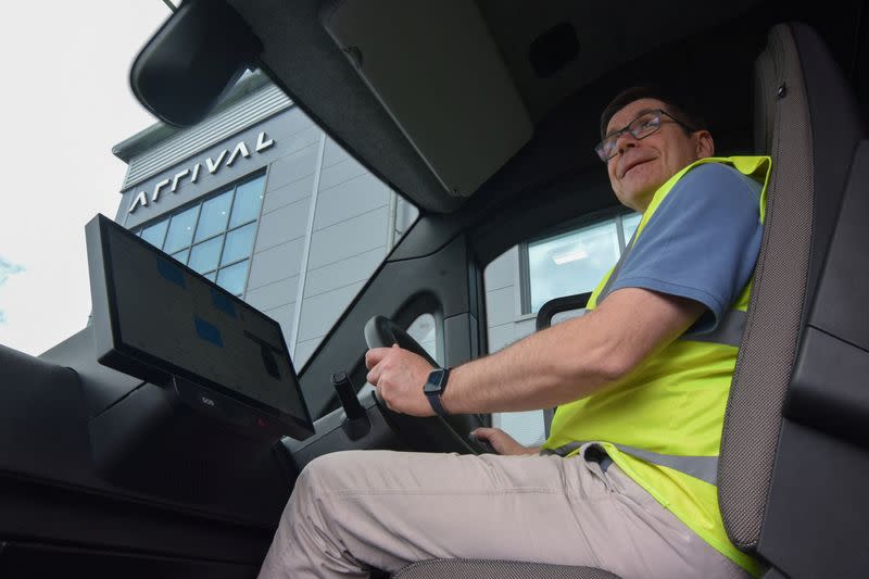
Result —
<instances>
[{"instance_id":1,"label":"driver's seat with grey textured fabric and tall backrest","mask_svg":"<svg viewBox=\"0 0 869 579\"><path fill-rule=\"evenodd\" d=\"M718 496L733 543L752 554L758 554L759 545L761 558L789 575L817 572L806 566L811 562L789 568L789 563L799 554L782 551L780 556L770 556L770 550L776 547L772 532L784 537L795 532L794 527L789 531L780 521L770 521L770 507L776 506L770 502L778 500L780 506L789 506L777 499L781 495L777 491L793 492L795 487L795 477L782 474L776 464L782 461L784 442L779 441L782 425L789 423L783 420L782 408L797 367L797 353L801 364L811 355L806 347L809 340L805 339L809 333L807 314L826 274L821 264L834 241L852 158L862 137L851 89L817 34L799 24L773 27L767 49L755 66L755 144L758 152L772 155L773 171L748 317L725 419ZM811 527L819 523L817 517L804 518L804 528L796 532L810 534ZM833 537L822 541L835 544L835 533L847 531L831 526L823 532ZM779 544L784 542L781 539ZM540 558L545 561L545 553ZM827 565L829 569L830 563ZM856 572L847 563L840 567L848 575ZM615 576L589 567L431 559L408 565L392 577L610 579ZM773 568L767 577L781 575Z\"/></svg>"}]
</instances>

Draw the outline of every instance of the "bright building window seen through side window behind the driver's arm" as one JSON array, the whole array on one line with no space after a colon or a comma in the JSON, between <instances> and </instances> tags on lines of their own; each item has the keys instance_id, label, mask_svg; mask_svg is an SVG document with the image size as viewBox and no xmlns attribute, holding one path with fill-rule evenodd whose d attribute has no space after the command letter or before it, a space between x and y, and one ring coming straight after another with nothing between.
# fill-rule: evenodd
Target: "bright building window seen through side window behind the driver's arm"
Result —
<instances>
[{"instance_id":1,"label":"bright building window seen through side window behind the driver's arm","mask_svg":"<svg viewBox=\"0 0 869 579\"><path fill-rule=\"evenodd\" d=\"M618 261L642 215L617 214L520 247L522 313L547 301L594 290Z\"/></svg>"}]
</instances>

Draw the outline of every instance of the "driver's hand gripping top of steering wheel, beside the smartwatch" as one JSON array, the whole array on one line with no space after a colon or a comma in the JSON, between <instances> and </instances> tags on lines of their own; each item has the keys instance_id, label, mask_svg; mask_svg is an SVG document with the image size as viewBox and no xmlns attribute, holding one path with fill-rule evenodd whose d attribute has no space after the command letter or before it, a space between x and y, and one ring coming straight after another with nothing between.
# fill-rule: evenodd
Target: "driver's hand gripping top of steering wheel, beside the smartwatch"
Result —
<instances>
[{"instance_id":1,"label":"driver's hand gripping top of steering wheel, beside the smartwatch","mask_svg":"<svg viewBox=\"0 0 869 579\"><path fill-rule=\"evenodd\" d=\"M434 416L423 386L431 372L431 364L421 356L394 344L392 348L373 348L365 353L368 382L393 412L411 416Z\"/></svg>"}]
</instances>

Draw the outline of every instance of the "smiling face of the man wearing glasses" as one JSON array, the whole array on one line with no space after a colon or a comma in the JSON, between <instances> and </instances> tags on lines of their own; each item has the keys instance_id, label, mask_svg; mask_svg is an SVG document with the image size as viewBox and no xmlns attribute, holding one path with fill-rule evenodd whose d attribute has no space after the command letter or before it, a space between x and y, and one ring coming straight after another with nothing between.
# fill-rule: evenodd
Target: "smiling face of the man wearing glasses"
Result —
<instances>
[{"instance_id":1,"label":"smiling face of the man wearing glasses","mask_svg":"<svg viewBox=\"0 0 869 579\"><path fill-rule=\"evenodd\" d=\"M619 110L606 127L610 135L628 125L639 114L652 109L667 111L657 99L640 99ZM643 140L626 131L616 143L616 155L607 164L609 182L618 200L634 211L644 212L655 191L685 165L714 153L711 136L684 129L663 116L660 128Z\"/></svg>"}]
</instances>

